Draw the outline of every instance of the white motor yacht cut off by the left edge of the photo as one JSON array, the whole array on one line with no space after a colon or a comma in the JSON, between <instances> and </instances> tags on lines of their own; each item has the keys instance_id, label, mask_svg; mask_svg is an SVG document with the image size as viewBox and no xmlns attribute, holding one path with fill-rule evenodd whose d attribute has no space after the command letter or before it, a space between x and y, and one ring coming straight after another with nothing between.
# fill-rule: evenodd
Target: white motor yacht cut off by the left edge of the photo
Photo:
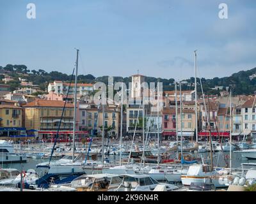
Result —
<instances>
[{"instance_id":1,"label":"white motor yacht cut off by the left edge of the photo","mask_svg":"<svg viewBox=\"0 0 256 204\"><path fill-rule=\"evenodd\" d=\"M27 157L14 152L14 147L6 140L0 140L0 163L24 163Z\"/></svg>"}]
</instances>

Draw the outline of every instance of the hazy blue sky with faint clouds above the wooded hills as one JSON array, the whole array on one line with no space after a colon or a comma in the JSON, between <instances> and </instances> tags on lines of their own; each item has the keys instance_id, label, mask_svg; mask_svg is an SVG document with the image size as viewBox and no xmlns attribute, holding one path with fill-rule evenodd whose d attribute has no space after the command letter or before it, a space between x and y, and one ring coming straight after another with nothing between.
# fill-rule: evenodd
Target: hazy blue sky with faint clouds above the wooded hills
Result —
<instances>
[{"instance_id":1,"label":"hazy blue sky with faint clouds above the wooded hills","mask_svg":"<svg viewBox=\"0 0 256 204\"><path fill-rule=\"evenodd\" d=\"M28 3L36 19L26 18ZM228 19L218 17L228 5ZM0 1L0 66L127 77L224 77L256 67L254 0Z\"/></svg>"}]
</instances>

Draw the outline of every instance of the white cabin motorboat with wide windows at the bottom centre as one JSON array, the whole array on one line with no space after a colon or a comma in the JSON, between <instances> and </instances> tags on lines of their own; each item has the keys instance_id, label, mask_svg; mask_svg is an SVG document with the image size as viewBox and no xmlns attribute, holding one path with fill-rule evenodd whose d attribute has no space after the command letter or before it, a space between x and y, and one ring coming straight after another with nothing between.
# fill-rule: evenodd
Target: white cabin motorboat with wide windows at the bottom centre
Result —
<instances>
[{"instance_id":1,"label":"white cabin motorboat with wide windows at the bottom centre","mask_svg":"<svg viewBox=\"0 0 256 204\"><path fill-rule=\"evenodd\" d=\"M179 189L173 184L159 183L146 174L124 174L119 175L122 178L122 183L113 191L154 191L157 185L162 184L167 191Z\"/></svg>"}]
</instances>

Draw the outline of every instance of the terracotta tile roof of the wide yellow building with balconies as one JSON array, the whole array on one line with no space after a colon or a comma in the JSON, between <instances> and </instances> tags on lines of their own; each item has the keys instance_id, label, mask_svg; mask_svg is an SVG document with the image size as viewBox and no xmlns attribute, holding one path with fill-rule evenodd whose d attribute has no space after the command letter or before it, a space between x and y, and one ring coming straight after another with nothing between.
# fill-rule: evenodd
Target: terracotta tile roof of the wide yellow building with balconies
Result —
<instances>
[{"instance_id":1,"label":"terracotta tile roof of the wide yellow building with balconies","mask_svg":"<svg viewBox=\"0 0 256 204\"><path fill-rule=\"evenodd\" d=\"M24 107L63 107L65 105L65 101L51 101L44 99L35 99L30 103L24 105ZM66 103L66 108L73 108L74 105L71 103Z\"/></svg>"}]
</instances>

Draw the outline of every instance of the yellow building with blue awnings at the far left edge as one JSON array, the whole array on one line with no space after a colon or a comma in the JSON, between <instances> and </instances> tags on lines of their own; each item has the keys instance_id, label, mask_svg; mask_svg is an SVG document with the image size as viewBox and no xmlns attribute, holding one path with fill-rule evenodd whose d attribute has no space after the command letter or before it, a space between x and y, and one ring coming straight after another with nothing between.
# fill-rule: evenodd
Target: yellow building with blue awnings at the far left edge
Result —
<instances>
[{"instance_id":1,"label":"yellow building with blue awnings at the far left edge","mask_svg":"<svg viewBox=\"0 0 256 204\"><path fill-rule=\"evenodd\" d=\"M15 105L0 105L0 138L25 134L22 128L22 108Z\"/></svg>"}]
</instances>

